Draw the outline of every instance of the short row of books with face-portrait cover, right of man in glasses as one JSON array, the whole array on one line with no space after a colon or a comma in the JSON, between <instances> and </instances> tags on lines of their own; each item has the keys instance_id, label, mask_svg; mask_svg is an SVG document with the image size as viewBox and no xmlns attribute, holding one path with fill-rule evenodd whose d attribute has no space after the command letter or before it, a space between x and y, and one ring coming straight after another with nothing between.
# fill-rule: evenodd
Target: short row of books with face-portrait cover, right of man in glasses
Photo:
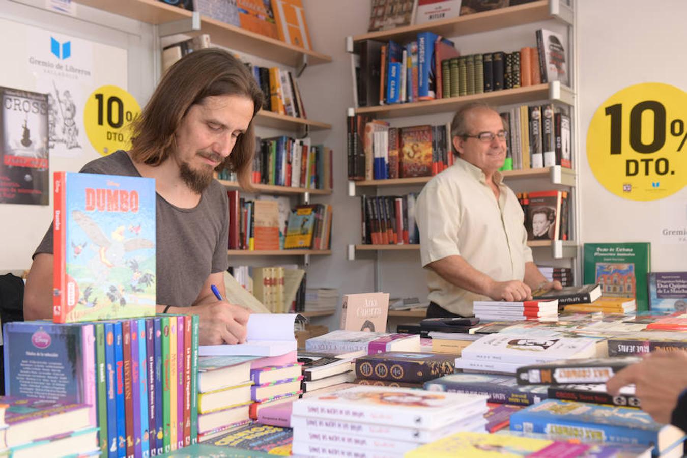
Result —
<instances>
[{"instance_id":1,"label":"short row of books with face-portrait cover, right of man in glasses","mask_svg":"<svg viewBox=\"0 0 687 458\"><path fill-rule=\"evenodd\" d=\"M570 195L567 191L519 192L527 240L570 240Z\"/></svg>"}]
</instances>

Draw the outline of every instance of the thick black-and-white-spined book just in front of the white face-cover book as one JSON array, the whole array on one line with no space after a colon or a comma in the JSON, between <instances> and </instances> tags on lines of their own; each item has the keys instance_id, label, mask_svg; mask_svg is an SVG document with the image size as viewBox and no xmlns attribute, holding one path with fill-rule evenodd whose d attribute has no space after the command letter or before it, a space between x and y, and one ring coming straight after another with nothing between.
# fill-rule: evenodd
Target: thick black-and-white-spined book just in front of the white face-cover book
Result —
<instances>
[{"instance_id":1,"label":"thick black-and-white-spined book just in front of the white face-cover book","mask_svg":"<svg viewBox=\"0 0 687 458\"><path fill-rule=\"evenodd\" d=\"M639 356L556 360L517 369L520 385L569 385L605 383L618 371L639 363Z\"/></svg>"}]
</instances>

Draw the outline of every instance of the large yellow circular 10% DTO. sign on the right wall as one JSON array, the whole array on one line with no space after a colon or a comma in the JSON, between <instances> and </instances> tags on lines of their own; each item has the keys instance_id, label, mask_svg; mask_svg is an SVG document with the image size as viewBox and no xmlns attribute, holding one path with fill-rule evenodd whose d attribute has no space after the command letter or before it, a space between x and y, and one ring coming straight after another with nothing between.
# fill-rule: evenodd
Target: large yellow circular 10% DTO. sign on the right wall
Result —
<instances>
[{"instance_id":1,"label":"large yellow circular 10% DTO. sign on the right wall","mask_svg":"<svg viewBox=\"0 0 687 458\"><path fill-rule=\"evenodd\" d=\"M658 82L611 95L587 131L587 161L607 190L653 201L687 184L687 93Z\"/></svg>"}]
</instances>

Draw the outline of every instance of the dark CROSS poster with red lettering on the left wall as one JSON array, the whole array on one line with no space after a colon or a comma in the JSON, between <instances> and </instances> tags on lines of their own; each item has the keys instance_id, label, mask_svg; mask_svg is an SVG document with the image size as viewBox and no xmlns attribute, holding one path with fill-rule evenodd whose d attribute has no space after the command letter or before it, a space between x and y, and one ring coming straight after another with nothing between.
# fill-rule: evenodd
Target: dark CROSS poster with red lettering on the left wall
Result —
<instances>
[{"instance_id":1,"label":"dark CROSS poster with red lettering on the left wall","mask_svg":"<svg viewBox=\"0 0 687 458\"><path fill-rule=\"evenodd\" d=\"M46 94L0 87L0 203L48 205Z\"/></svg>"}]
</instances>

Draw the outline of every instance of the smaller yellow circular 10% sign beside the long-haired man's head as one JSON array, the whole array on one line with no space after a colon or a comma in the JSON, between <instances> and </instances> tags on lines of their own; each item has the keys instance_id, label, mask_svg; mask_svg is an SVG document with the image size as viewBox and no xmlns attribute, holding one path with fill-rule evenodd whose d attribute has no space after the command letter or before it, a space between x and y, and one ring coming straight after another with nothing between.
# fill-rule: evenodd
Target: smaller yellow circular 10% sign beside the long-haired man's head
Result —
<instances>
[{"instance_id":1,"label":"smaller yellow circular 10% sign beside the long-haired man's head","mask_svg":"<svg viewBox=\"0 0 687 458\"><path fill-rule=\"evenodd\" d=\"M103 156L131 148L129 126L141 108L133 95L117 86L102 86L89 96L84 126L91 145Z\"/></svg>"}]
</instances>

